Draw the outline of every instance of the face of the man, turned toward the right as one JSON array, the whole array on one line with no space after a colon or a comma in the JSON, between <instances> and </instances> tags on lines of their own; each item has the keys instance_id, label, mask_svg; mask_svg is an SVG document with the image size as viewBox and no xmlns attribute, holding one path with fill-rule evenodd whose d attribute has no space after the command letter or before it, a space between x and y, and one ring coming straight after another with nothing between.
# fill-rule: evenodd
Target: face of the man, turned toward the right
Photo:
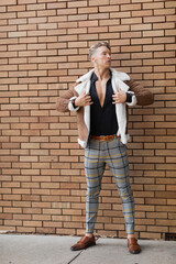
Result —
<instances>
[{"instance_id":1,"label":"face of the man, turned toward the right","mask_svg":"<svg viewBox=\"0 0 176 264\"><path fill-rule=\"evenodd\" d=\"M111 52L106 46L100 46L91 56L91 62L98 67L109 68L111 66Z\"/></svg>"}]
</instances>

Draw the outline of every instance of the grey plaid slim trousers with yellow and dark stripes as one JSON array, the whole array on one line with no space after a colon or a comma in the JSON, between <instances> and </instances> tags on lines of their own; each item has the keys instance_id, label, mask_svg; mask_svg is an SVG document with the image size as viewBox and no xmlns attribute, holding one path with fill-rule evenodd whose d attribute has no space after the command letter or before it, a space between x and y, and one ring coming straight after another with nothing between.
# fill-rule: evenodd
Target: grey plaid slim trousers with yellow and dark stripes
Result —
<instances>
[{"instance_id":1,"label":"grey plaid slim trousers with yellow and dark stripes","mask_svg":"<svg viewBox=\"0 0 176 264\"><path fill-rule=\"evenodd\" d=\"M86 232L92 233L97 220L98 197L106 164L113 174L122 200L125 231L134 233L134 199L129 179L127 146L119 138L99 141L89 139L85 148L85 174L87 179Z\"/></svg>"}]
</instances>

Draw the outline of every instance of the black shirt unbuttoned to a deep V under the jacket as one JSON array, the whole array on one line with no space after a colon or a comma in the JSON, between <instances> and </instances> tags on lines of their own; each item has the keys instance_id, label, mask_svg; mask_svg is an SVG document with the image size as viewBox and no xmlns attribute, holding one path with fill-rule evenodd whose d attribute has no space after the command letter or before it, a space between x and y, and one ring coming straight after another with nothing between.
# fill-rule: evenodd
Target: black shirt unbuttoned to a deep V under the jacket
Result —
<instances>
[{"instance_id":1,"label":"black shirt unbuttoned to a deep V under the jacket","mask_svg":"<svg viewBox=\"0 0 176 264\"><path fill-rule=\"evenodd\" d=\"M98 77L94 73L90 78L90 96L94 102L90 106L90 135L112 135L118 132L118 120L116 114L116 105L112 103L112 74L110 72L110 78L107 81L106 97L103 106L101 107L97 89L96 81ZM127 92L127 101L131 102L131 96Z\"/></svg>"}]
</instances>

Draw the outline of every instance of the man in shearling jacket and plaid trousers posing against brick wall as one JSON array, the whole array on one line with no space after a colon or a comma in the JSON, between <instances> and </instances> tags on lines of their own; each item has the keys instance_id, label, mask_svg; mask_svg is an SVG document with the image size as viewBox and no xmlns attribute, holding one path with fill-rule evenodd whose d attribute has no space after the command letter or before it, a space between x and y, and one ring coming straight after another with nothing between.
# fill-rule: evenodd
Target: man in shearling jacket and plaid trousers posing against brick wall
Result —
<instances>
[{"instance_id":1,"label":"man in shearling jacket and plaid trousers posing against brick wall","mask_svg":"<svg viewBox=\"0 0 176 264\"><path fill-rule=\"evenodd\" d=\"M85 174L87 179L86 233L70 249L73 251L95 245L94 229L98 211L98 197L106 164L113 174L122 199L132 254L141 251L134 238L134 200L129 179L127 155L127 105L147 106L153 95L130 79L125 73L111 68L111 50L108 43L92 45L89 57L94 64L63 97L57 98L58 111L76 111L78 143L85 148Z\"/></svg>"}]
</instances>

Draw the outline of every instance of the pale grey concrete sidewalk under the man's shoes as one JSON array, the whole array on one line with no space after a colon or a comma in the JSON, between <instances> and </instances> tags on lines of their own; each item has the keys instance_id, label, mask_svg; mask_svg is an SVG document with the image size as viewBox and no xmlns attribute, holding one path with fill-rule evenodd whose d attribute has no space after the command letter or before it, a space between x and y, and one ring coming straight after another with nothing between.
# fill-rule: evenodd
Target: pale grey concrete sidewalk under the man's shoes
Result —
<instances>
[{"instance_id":1,"label":"pale grey concrete sidewalk under the man's shoes","mask_svg":"<svg viewBox=\"0 0 176 264\"><path fill-rule=\"evenodd\" d=\"M176 264L175 241L139 240L132 255L124 239L99 238L97 245L73 252L77 237L0 234L0 264Z\"/></svg>"}]
</instances>

